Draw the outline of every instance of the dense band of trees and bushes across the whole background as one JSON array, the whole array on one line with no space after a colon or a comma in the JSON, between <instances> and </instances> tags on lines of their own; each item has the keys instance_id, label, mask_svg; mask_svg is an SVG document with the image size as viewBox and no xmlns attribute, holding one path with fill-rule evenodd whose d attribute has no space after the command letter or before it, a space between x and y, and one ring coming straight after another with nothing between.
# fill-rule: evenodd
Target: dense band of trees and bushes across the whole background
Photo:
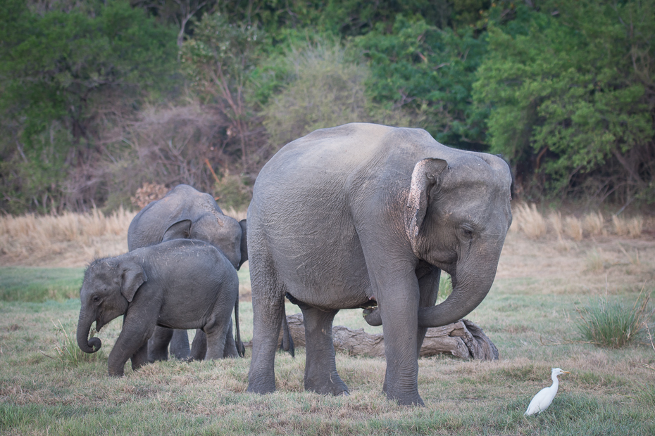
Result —
<instances>
[{"instance_id":1,"label":"dense band of trees and bushes across the whole background","mask_svg":"<svg viewBox=\"0 0 655 436\"><path fill-rule=\"evenodd\" d=\"M284 143L354 121L500 153L519 198L655 202L651 1L6 0L0 16L5 212L128 206L146 182L246 201Z\"/></svg>"}]
</instances>

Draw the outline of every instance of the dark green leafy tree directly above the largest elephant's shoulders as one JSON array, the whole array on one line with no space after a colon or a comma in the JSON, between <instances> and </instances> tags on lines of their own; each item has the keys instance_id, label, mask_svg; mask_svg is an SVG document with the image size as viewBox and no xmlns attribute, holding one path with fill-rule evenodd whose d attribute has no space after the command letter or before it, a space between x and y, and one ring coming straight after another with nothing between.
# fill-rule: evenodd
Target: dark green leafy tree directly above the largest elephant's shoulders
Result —
<instances>
[{"instance_id":1,"label":"dark green leafy tree directly above the largest elephant's shoulders","mask_svg":"<svg viewBox=\"0 0 655 436\"><path fill-rule=\"evenodd\" d=\"M378 25L355 43L369 60L367 92L374 101L411 114L437 141L482 149L477 113L470 111L475 71L486 53L484 37L461 34L399 15L392 30Z\"/></svg>"}]
</instances>

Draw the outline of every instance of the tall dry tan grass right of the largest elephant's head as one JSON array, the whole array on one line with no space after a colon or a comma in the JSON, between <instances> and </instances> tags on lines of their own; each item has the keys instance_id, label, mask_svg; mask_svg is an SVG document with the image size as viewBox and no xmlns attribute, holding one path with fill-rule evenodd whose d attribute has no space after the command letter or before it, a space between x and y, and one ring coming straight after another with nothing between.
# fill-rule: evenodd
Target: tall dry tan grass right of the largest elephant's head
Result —
<instances>
[{"instance_id":1,"label":"tall dry tan grass right of the largest elephant's head","mask_svg":"<svg viewBox=\"0 0 655 436\"><path fill-rule=\"evenodd\" d=\"M623 218L613 215L606 219L601 212L591 212L582 217L561 212L551 212L547 218L537 210L537 206L520 203L513 208L511 230L525 234L528 238L539 239L553 234L560 241L564 238L582 241L583 238L609 236L610 234L626 238L639 238L644 232L644 218Z\"/></svg>"}]
</instances>

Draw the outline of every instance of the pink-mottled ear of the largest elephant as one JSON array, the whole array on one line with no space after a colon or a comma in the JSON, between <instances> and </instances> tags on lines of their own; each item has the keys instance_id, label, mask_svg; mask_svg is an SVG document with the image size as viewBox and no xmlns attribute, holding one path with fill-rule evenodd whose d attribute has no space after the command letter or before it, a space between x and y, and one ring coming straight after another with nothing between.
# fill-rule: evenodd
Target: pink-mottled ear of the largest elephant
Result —
<instances>
[{"instance_id":1,"label":"pink-mottled ear of the largest elephant","mask_svg":"<svg viewBox=\"0 0 655 436\"><path fill-rule=\"evenodd\" d=\"M415 251L416 237L430 203L430 189L447 167L448 162L436 158L423 159L414 165L405 211L405 231Z\"/></svg>"}]
</instances>

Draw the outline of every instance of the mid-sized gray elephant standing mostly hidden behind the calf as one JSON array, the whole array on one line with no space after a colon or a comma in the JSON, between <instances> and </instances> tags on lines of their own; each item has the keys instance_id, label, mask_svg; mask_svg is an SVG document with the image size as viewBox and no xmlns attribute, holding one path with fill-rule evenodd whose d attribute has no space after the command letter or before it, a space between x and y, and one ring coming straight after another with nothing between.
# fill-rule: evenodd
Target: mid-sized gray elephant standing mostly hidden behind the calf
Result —
<instances>
[{"instance_id":1,"label":"mid-sized gray elephant standing mostly hidden behind the calf","mask_svg":"<svg viewBox=\"0 0 655 436\"><path fill-rule=\"evenodd\" d=\"M235 269L248 260L246 244L246 220L237 222L220 210L213 197L201 193L192 186L180 184L169 191L164 198L144 207L130 223L127 230L127 247L148 247L171 239L199 239L214 245L230 260ZM238 322L238 321L237 321ZM236 326L237 331L239 326ZM187 331L170 331L158 327L149 341L149 360L168 359L170 352L178 359L199 359L203 354L201 340L204 335L196 332L195 345L189 350ZM230 338L232 334L230 334Z\"/></svg>"}]
</instances>

